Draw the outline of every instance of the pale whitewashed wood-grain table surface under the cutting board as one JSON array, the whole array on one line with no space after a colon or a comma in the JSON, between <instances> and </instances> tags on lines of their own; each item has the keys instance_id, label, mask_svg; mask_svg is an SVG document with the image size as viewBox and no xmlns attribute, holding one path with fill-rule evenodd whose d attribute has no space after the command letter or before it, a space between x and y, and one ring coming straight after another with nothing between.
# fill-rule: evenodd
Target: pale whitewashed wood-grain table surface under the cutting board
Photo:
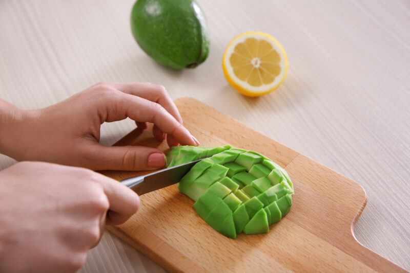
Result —
<instances>
[{"instance_id":1,"label":"pale whitewashed wood-grain table surface under the cutting board","mask_svg":"<svg viewBox=\"0 0 410 273\"><path fill-rule=\"evenodd\" d=\"M354 232L410 269L410 2L199 1L208 60L170 71L130 33L133 0L0 0L0 97L20 108L63 100L99 81L149 81L197 98L358 181L368 203ZM221 69L236 34L260 30L284 46L290 70L274 93L237 94ZM110 145L134 128L103 126ZM14 163L0 157L0 169ZM153 215L153 217L155 217ZM163 271L105 233L81 272Z\"/></svg>"}]
</instances>

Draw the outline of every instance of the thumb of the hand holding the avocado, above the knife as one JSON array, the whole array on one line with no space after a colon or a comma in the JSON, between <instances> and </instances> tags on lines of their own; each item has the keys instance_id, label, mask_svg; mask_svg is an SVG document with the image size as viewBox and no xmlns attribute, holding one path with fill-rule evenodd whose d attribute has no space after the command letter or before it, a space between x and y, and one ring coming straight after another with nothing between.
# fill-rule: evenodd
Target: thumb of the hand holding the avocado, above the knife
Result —
<instances>
[{"instance_id":1,"label":"thumb of the hand holding the avocado, above the knife","mask_svg":"<svg viewBox=\"0 0 410 273\"><path fill-rule=\"evenodd\" d=\"M93 170L142 171L165 166L165 155L158 149L144 146L93 145L90 168Z\"/></svg>"}]
</instances>

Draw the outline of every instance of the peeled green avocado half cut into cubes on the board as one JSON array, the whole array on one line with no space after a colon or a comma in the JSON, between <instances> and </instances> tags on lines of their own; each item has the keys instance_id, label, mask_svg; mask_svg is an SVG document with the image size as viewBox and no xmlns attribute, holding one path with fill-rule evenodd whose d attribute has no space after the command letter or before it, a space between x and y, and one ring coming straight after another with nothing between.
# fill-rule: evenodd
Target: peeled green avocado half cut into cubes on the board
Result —
<instances>
[{"instance_id":1,"label":"peeled green avocado half cut into cubes on the board","mask_svg":"<svg viewBox=\"0 0 410 273\"><path fill-rule=\"evenodd\" d=\"M207 158L204 158L207 157ZM267 233L292 207L289 174L268 157L230 145L172 147L168 167L204 158L181 178L180 192L198 215L224 236Z\"/></svg>"}]
</instances>

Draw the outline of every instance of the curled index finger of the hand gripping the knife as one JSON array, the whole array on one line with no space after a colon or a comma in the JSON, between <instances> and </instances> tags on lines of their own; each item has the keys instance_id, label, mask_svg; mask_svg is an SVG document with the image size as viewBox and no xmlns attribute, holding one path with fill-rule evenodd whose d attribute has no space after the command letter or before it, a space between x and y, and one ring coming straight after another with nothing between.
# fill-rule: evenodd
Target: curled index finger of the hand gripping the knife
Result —
<instances>
[{"instance_id":1,"label":"curled index finger of the hand gripping the knife","mask_svg":"<svg viewBox=\"0 0 410 273\"><path fill-rule=\"evenodd\" d=\"M124 223L137 212L140 201L135 192L104 175L100 175L96 181L103 187L110 203L106 219L107 224Z\"/></svg>"}]
</instances>

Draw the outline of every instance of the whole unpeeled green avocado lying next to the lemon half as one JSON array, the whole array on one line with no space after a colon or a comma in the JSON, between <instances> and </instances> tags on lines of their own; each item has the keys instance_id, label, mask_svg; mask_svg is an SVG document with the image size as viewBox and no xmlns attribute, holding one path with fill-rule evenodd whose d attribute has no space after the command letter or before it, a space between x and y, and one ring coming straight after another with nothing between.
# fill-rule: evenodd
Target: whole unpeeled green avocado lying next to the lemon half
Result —
<instances>
[{"instance_id":1,"label":"whole unpeeled green avocado lying next to the lemon half","mask_svg":"<svg viewBox=\"0 0 410 273\"><path fill-rule=\"evenodd\" d=\"M206 20L192 0L138 0L131 30L142 50L171 69L193 68L209 54Z\"/></svg>"}]
</instances>

